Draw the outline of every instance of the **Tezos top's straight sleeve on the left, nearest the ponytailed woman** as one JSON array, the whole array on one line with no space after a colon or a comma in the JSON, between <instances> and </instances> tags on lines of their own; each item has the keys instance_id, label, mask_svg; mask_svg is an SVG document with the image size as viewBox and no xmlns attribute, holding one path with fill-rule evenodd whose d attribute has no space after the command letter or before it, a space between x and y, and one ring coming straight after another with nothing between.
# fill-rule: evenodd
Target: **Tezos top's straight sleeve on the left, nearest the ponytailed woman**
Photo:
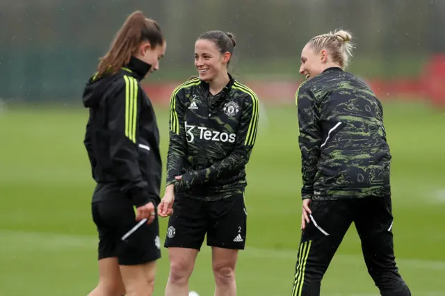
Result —
<instances>
[{"instance_id":1,"label":"Tezos top's straight sleeve on the left, nearest the ponytailed woman","mask_svg":"<svg viewBox=\"0 0 445 296\"><path fill-rule=\"evenodd\" d=\"M184 104L181 101L182 92L175 90L170 98L170 142L167 155L166 185L175 183L175 176L182 174L184 158L186 157L186 133L184 131Z\"/></svg>"}]
</instances>

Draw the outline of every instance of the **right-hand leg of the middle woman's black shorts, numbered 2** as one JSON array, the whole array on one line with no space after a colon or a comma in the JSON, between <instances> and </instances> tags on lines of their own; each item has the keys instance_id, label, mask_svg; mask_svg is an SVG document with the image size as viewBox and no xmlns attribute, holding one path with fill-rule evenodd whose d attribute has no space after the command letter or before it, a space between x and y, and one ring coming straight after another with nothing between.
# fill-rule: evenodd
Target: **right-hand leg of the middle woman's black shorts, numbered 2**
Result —
<instances>
[{"instance_id":1,"label":"right-hand leg of the middle woman's black shorts, numbered 2","mask_svg":"<svg viewBox=\"0 0 445 296\"><path fill-rule=\"evenodd\" d=\"M247 211L244 195L208 202L207 245L224 249L244 249L247 236Z\"/></svg>"}]
</instances>

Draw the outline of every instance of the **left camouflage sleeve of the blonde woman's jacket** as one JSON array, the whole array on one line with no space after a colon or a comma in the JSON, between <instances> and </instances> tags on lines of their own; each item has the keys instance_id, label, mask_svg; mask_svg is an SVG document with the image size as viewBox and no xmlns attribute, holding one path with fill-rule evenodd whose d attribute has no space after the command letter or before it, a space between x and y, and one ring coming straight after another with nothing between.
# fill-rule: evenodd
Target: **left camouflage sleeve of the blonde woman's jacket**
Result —
<instances>
[{"instance_id":1,"label":"left camouflage sleeve of the blonde woman's jacket","mask_svg":"<svg viewBox=\"0 0 445 296\"><path fill-rule=\"evenodd\" d=\"M296 93L298 109L298 144L301 151L302 199L314 195L316 166L320 158L322 135L318 126L318 112L314 95L302 85Z\"/></svg>"}]
</instances>

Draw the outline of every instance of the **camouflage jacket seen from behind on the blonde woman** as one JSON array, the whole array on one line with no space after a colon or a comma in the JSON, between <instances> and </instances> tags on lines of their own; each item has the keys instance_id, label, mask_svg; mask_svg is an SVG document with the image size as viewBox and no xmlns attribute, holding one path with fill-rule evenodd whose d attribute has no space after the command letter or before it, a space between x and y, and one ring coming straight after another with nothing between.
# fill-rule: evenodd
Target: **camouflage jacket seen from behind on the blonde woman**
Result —
<instances>
[{"instance_id":1,"label":"camouflage jacket seen from behind on the blonde woman","mask_svg":"<svg viewBox=\"0 0 445 296\"><path fill-rule=\"evenodd\" d=\"M382 104L353 74L331 67L296 93L302 199L390 194Z\"/></svg>"}]
</instances>

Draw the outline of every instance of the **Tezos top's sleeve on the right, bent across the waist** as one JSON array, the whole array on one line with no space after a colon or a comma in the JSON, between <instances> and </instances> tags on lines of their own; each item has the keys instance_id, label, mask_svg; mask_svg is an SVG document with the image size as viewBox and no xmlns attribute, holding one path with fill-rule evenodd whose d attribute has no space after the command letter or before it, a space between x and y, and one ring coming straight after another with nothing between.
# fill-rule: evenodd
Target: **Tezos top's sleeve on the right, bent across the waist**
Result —
<instances>
[{"instance_id":1,"label":"Tezos top's sleeve on the right, bent across the waist","mask_svg":"<svg viewBox=\"0 0 445 296\"><path fill-rule=\"evenodd\" d=\"M183 186L196 186L218 179L220 176L242 170L248 163L257 138L259 101L257 96L247 94L241 110L241 122L236 133L234 150L223 160L202 170L188 172L183 176Z\"/></svg>"}]
</instances>

